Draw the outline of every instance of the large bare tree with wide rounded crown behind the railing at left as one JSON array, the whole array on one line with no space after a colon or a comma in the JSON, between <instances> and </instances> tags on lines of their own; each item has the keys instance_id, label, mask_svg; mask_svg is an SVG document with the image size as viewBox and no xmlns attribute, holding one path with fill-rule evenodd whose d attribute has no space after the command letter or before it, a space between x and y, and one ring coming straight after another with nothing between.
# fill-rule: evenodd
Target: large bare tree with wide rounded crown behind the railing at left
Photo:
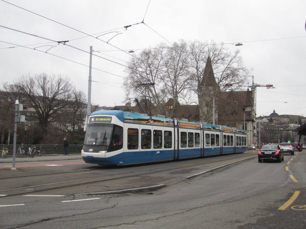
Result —
<instances>
[{"instance_id":1,"label":"large bare tree with wide rounded crown behind the railing at left","mask_svg":"<svg viewBox=\"0 0 306 229\"><path fill-rule=\"evenodd\" d=\"M35 131L35 136L29 138L29 144L42 142L56 138L64 133L56 133L54 125L59 125L61 114L80 111L80 104L84 102L84 93L77 92L68 77L62 75L47 75L46 73L35 75L23 75L13 81L13 84L4 84L4 89L11 93L13 100L19 98L19 102L30 107L28 117L33 125L30 129ZM79 103L76 103L79 99ZM76 104L79 104L76 106ZM75 118L75 116L73 117ZM72 118L72 119L73 119ZM79 118L77 118L79 119ZM79 122L73 121L73 122ZM71 122L70 127L74 126ZM73 128L72 128L73 129Z\"/></svg>"}]
</instances>

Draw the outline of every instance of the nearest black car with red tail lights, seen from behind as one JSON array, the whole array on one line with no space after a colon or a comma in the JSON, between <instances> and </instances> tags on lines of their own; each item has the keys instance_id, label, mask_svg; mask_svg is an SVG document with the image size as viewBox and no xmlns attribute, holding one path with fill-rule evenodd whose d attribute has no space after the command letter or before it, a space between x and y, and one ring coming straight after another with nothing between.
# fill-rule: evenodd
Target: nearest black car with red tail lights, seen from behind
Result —
<instances>
[{"instance_id":1,"label":"nearest black car with red tail lights, seen from behind","mask_svg":"<svg viewBox=\"0 0 306 229\"><path fill-rule=\"evenodd\" d=\"M282 162L284 160L284 152L278 145L263 145L258 151L258 162L263 160Z\"/></svg>"}]
</instances>

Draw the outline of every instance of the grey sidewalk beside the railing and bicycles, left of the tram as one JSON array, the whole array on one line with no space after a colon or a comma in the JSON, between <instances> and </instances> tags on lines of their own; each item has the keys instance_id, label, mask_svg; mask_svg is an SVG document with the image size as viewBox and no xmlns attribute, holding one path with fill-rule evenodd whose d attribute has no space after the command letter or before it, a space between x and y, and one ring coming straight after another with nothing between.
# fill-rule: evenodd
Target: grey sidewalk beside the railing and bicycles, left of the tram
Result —
<instances>
[{"instance_id":1,"label":"grey sidewalk beside the railing and bicycles, left of the tram","mask_svg":"<svg viewBox=\"0 0 306 229\"><path fill-rule=\"evenodd\" d=\"M45 161L61 161L61 160L80 160L83 161L81 154L68 154L67 156L63 154L52 154L46 156L35 156L31 158L29 156L25 156L23 158L16 157L15 162L45 162ZM0 163L13 163L13 156L9 155L6 158L0 157Z\"/></svg>"}]
</instances>

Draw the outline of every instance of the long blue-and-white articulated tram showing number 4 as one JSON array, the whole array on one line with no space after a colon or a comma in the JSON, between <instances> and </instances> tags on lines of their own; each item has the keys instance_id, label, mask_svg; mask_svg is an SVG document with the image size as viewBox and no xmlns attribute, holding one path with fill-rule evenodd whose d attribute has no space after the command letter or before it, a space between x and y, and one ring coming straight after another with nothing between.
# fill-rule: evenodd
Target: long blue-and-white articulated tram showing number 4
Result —
<instances>
[{"instance_id":1,"label":"long blue-and-white articulated tram showing number 4","mask_svg":"<svg viewBox=\"0 0 306 229\"><path fill-rule=\"evenodd\" d=\"M187 119L95 111L85 121L82 158L129 165L246 152L246 131Z\"/></svg>"}]
</instances>

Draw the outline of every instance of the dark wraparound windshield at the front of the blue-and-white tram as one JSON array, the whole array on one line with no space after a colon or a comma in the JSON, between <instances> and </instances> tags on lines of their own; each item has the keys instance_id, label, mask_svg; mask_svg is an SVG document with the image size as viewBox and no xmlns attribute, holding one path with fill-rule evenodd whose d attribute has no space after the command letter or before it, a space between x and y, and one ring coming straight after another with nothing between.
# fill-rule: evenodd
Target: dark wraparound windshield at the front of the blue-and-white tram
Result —
<instances>
[{"instance_id":1,"label":"dark wraparound windshield at the front of the blue-and-white tram","mask_svg":"<svg viewBox=\"0 0 306 229\"><path fill-rule=\"evenodd\" d=\"M121 126L111 123L89 123L84 144L96 146L121 145L122 130Z\"/></svg>"}]
</instances>

